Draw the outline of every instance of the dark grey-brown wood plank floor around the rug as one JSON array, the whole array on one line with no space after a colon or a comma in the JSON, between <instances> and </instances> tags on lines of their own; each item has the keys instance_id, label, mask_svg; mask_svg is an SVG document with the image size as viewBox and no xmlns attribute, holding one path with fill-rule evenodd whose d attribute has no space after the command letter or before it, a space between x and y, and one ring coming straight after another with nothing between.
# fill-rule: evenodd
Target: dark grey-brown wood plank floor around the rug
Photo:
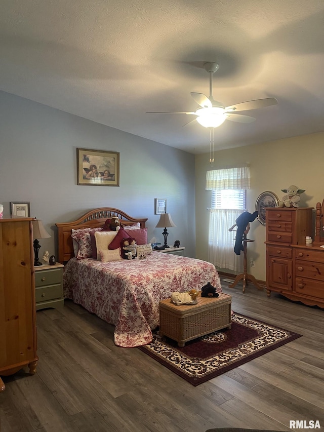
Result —
<instances>
[{"instance_id":1,"label":"dark grey-brown wood plank floor around the rug","mask_svg":"<svg viewBox=\"0 0 324 432\"><path fill-rule=\"evenodd\" d=\"M111 325L65 301L37 312L36 374L4 377L1 432L324 428L324 310L222 284L234 311L303 337L193 387L139 349L115 346Z\"/></svg>"}]
</instances>

